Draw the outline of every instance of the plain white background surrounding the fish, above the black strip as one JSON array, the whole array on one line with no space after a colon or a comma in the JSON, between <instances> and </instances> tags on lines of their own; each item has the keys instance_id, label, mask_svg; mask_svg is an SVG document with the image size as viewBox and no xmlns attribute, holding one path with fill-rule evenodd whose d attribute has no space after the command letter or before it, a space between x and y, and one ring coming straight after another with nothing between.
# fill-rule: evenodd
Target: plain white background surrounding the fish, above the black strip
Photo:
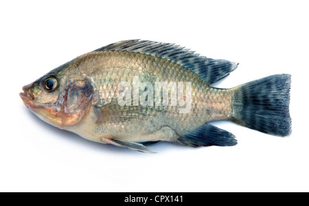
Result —
<instances>
[{"instance_id":1,"label":"plain white background surrounding the fish, above the black strip","mask_svg":"<svg viewBox=\"0 0 309 206\"><path fill-rule=\"evenodd\" d=\"M1 1L0 192L309 192L306 1ZM293 133L230 122L233 147L169 143L145 154L45 124L21 87L63 63L132 38L240 62L216 87L290 73Z\"/></svg>"}]
</instances>

